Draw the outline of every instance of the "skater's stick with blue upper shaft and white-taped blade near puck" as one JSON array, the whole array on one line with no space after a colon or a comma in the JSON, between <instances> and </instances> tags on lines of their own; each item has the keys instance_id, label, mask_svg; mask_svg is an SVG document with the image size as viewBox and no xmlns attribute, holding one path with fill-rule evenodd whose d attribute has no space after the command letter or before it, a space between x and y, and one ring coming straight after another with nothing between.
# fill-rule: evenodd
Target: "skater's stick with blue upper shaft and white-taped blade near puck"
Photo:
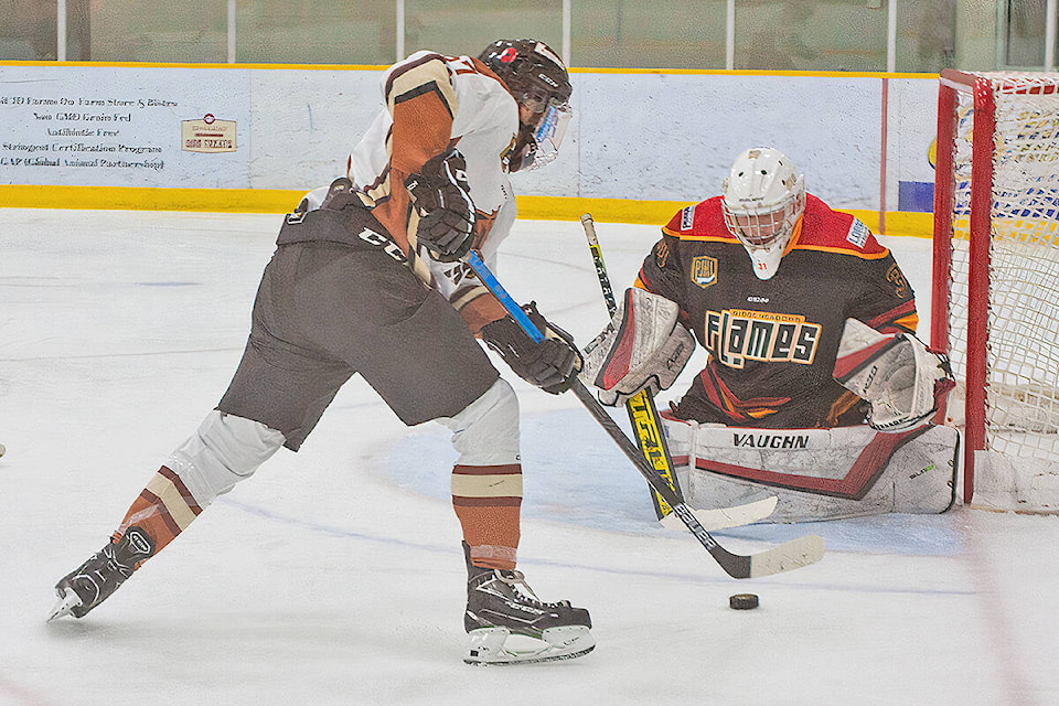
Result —
<instances>
[{"instance_id":1,"label":"skater's stick with blue upper shaft and white-taped blade near puck","mask_svg":"<svg viewBox=\"0 0 1059 706\"><path fill-rule=\"evenodd\" d=\"M511 298L507 290L503 288L496 277L485 266L485 263L482 261L478 253L471 250L463 258L463 261L474 270L478 278L504 307L511 318L526 332L526 335L538 343L544 340L544 334L534 325L530 317L526 315L526 312L522 310L522 307L515 303L514 299ZM662 500L668 503L673 510L673 514L681 518L684 525L695 535L695 538L706 547L706 550L717 560L728 576L732 578L769 576L771 574L789 571L814 564L824 556L824 541L817 535L798 537L780 546L751 555L732 554L724 548L717 544L713 535L703 527L695 517L695 514L684 504L684 501L673 492L668 483L662 480L654 468L648 463L640 453L640 449L629 440L629 437L627 437L618 424L610 418L610 415L607 414L602 405L596 400L596 397L586 389L581 381L575 377L570 389L574 391L577 398L581 400L585 408L588 409L589 414L591 414L596 421L607 431L610 438L614 440L625 457L632 461L633 466L635 466L640 474L646 479L651 488L662 496Z\"/></svg>"}]
</instances>

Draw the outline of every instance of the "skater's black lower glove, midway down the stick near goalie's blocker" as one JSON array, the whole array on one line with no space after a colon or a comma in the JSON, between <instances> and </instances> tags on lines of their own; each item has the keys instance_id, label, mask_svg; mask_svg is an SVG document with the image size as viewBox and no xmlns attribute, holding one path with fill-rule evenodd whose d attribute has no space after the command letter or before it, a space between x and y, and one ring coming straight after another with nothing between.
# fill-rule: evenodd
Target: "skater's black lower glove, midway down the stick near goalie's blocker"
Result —
<instances>
[{"instance_id":1,"label":"skater's black lower glove, midway down the stick near goalie's blocker","mask_svg":"<svg viewBox=\"0 0 1059 706\"><path fill-rule=\"evenodd\" d=\"M535 302L531 301L522 310L537 330L544 333L544 341L535 342L511 317L482 327L482 340L500 353L512 372L522 379L553 395L565 393L581 370L581 354L574 343L574 338L548 323L537 311Z\"/></svg>"}]
</instances>

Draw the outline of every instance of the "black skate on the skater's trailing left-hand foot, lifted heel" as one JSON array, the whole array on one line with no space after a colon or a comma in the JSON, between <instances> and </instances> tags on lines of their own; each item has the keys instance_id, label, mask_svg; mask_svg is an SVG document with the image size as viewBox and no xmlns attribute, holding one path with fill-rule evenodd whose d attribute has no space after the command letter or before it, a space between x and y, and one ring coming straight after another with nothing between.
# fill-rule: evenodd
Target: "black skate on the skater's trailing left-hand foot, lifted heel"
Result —
<instances>
[{"instance_id":1,"label":"black skate on the skater's trailing left-hand foot, lifted heel","mask_svg":"<svg viewBox=\"0 0 1059 706\"><path fill-rule=\"evenodd\" d=\"M132 576L137 564L153 554L150 535L140 527L129 527L120 539L111 541L55 585L58 602L47 622L63 616L84 618Z\"/></svg>"}]
</instances>

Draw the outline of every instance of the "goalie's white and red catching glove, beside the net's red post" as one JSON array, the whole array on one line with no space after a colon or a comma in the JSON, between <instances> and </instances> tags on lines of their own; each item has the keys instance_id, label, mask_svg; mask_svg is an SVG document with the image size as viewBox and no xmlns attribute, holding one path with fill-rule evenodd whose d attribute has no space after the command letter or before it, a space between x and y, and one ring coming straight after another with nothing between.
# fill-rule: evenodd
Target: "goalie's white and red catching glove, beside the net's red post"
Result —
<instances>
[{"instance_id":1,"label":"goalie's white and red catching glove, beside the net's red post","mask_svg":"<svg viewBox=\"0 0 1059 706\"><path fill-rule=\"evenodd\" d=\"M835 379L871 405L868 424L905 431L926 424L954 383L949 361L910 333L879 333L846 319Z\"/></svg>"}]
</instances>

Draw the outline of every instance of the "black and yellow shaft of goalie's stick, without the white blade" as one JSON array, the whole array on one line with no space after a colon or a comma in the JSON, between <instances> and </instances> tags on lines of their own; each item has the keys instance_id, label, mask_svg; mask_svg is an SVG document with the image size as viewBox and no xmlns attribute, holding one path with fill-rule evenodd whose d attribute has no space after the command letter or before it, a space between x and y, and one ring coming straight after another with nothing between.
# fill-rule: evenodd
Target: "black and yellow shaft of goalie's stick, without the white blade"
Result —
<instances>
[{"instance_id":1,"label":"black and yellow shaft of goalie's stick, without the white blade","mask_svg":"<svg viewBox=\"0 0 1059 706\"><path fill-rule=\"evenodd\" d=\"M592 263L596 265L596 278L599 279L599 287L603 291L603 300L607 302L607 313L614 315L614 312L618 311L618 303L614 300L614 290L610 286L610 276L607 274L607 264L603 261L603 253L599 247L596 223L592 221L591 214L586 213L581 216L581 226L585 228L588 249L591 252ZM643 458L668 483L676 496L683 500L684 493L681 492L681 484L673 472L673 457L670 456L668 446L662 435L662 422L659 419L659 408L654 404L654 395L651 394L650 389L637 393L625 403L625 410L629 413L629 424L635 434L637 445L640 447ZM660 521L672 512L672 507L654 491L651 492L651 501L654 505L654 513Z\"/></svg>"}]
</instances>

